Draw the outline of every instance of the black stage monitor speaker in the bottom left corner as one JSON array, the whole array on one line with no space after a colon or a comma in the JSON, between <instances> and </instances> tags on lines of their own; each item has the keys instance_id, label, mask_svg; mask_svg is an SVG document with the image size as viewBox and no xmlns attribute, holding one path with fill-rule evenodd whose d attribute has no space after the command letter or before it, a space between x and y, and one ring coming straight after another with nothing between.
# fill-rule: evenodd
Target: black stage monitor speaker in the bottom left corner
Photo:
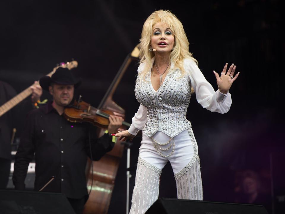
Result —
<instances>
[{"instance_id":1,"label":"black stage monitor speaker in the bottom left corner","mask_svg":"<svg viewBox=\"0 0 285 214\"><path fill-rule=\"evenodd\" d=\"M0 190L0 213L75 214L62 193Z\"/></svg>"}]
</instances>

